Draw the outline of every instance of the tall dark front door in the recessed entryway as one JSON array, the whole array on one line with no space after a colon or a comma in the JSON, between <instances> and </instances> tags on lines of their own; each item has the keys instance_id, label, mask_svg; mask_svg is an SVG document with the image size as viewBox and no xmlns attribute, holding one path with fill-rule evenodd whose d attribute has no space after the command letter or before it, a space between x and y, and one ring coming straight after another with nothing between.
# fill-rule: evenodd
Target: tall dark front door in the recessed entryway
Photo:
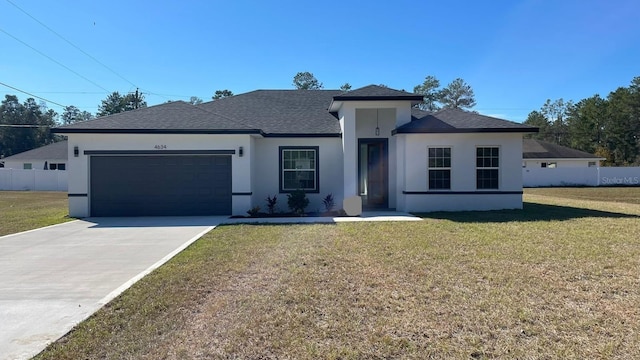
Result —
<instances>
[{"instance_id":1,"label":"tall dark front door in the recessed entryway","mask_svg":"<svg viewBox=\"0 0 640 360\"><path fill-rule=\"evenodd\" d=\"M358 184L362 205L365 208L387 208L388 140L360 139L358 144Z\"/></svg>"}]
</instances>

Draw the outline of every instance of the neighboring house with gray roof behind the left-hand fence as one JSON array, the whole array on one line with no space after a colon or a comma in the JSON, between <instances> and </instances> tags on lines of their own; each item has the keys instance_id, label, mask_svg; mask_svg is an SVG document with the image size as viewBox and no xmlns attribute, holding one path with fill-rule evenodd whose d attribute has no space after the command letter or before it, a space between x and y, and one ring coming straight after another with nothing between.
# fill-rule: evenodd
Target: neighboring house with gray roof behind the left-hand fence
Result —
<instances>
[{"instance_id":1,"label":"neighboring house with gray roof behind the left-hand fence","mask_svg":"<svg viewBox=\"0 0 640 360\"><path fill-rule=\"evenodd\" d=\"M7 156L2 161L5 169L66 170L67 147L66 141L60 141Z\"/></svg>"}]
</instances>

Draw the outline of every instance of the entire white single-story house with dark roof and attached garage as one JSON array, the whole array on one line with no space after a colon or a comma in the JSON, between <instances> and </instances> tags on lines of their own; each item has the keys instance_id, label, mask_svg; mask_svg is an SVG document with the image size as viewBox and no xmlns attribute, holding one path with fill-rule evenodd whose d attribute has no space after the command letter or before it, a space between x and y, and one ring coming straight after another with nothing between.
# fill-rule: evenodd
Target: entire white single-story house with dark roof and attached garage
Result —
<instances>
[{"instance_id":1,"label":"entire white single-story house with dark roof and attached garage","mask_svg":"<svg viewBox=\"0 0 640 360\"><path fill-rule=\"evenodd\" d=\"M69 214L231 215L304 190L308 210L522 208L522 135L536 128L375 85L257 90L53 129L69 137ZM339 205L340 206L340 205Z\"/></svg>"}]
</instances>

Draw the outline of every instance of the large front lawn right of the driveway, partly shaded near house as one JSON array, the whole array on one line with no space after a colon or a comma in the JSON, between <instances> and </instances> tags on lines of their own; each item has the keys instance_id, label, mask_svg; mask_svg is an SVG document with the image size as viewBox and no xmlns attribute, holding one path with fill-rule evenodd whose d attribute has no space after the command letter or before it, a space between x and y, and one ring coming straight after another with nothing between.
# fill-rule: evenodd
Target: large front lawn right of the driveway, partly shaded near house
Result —
<instances>
[{"instance_id":1,"label":"large front lawn right of the driveway, partly shaded near house","mask_svg":"<svg viewBox=\"0 0 640 360\"><path fill-rule=\"evenodd\" d=\"M529 201L223 226L38 359L640 358L640 206Z\"/></svg>"}]
</instances>

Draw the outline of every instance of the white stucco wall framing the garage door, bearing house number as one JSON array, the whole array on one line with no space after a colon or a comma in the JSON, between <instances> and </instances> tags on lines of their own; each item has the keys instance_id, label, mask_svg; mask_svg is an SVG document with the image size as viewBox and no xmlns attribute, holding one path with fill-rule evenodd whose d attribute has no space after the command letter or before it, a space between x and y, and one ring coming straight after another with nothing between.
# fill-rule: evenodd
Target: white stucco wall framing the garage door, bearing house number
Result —
<instances>
[{"instance_id":1,"label":"white stucco wall framing the garage door, bearing house number","mask_svg":"<svg viewBox=\"0 0 640 360\"><path fill-rule=\"evenodd\" d=\"M207 135L207 134L69 134L69 215L90 216L89 165L87 150L147 150L154 151L156 145L166 146L166 150L235 150L231 156L232 192L251 192L252 141L249 135ZM75 157L74 148L79 156ZM244 156L238 154L242 146ZM117 171L117 169L115 169ZM88 196L82 196L87 194ZM233 214L245 214L251 207L251 196L233 196Z\"/></svg>"}]
</instances>

